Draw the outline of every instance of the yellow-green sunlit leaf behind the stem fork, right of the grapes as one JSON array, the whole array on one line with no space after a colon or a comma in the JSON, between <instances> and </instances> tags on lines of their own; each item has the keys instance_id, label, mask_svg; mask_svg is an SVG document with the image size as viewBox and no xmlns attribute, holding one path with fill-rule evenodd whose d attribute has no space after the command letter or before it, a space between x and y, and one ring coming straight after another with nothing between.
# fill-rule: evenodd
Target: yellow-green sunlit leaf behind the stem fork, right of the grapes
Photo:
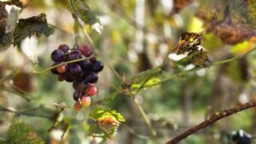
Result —
<instances>
[{"instance_id":1,"label":"yellow-green sunlit leaf behind the stem fork, right of the grapes","mask_svg":"<svg viewBox=\"0 0 256 144\"><path fill-rule=\"evenodd\" d=\"M160 84L161 69L159 67L140 72L135 77L131 78L131 92L137 93L140 89L151 87Z\"/></svg>"}]
</instances>

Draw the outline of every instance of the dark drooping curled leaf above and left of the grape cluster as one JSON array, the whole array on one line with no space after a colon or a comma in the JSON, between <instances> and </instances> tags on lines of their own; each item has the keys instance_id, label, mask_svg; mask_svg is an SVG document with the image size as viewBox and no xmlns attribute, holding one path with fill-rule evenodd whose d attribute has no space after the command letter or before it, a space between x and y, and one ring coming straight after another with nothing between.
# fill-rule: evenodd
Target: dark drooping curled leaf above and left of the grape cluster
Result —
<instances>
[{"instance_id":1,"label":"dark drooping curled leaf above and left of the grape cluster","mask_svg":"<svg viewBox=\"0 0 256 144\"><path fill-rule=\"evenodd\" d=\"M20 19L14 33L15 45L20 45L24 38L30 37L32 34L44 34L44 36L49 37L53 32L54 29L47 25L45 14Z\"/></svg>"}]
</instances>

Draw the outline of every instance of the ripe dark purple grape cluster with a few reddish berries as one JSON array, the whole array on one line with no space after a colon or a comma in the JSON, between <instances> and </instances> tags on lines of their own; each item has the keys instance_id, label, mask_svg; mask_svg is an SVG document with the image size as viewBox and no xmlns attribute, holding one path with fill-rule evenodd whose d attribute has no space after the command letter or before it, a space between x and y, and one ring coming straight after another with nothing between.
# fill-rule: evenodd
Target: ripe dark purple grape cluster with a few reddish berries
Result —
<instances>
[{"instance_id":1,"label":"ripe dark purple grape cluster with a few reddish berries","mask_svg":"<svg viewBox=\"0 0 256 144\"><path fill-rule=\"evenodd\" d=\"M51 53L51 60L54 61L52 66L60 65L51 69L52 73L58 75L59 81L73 83L73 100L76 101L74 109L79 111L83 106L89 107L90 96L97 92L94 85L98 81L97 73L103 69L102 61L96 60L90 46L84 44L78 49L69 49L67 44L61 44ZM79 61L65 64L71 60Z\"/></svg>"}]
</instances>

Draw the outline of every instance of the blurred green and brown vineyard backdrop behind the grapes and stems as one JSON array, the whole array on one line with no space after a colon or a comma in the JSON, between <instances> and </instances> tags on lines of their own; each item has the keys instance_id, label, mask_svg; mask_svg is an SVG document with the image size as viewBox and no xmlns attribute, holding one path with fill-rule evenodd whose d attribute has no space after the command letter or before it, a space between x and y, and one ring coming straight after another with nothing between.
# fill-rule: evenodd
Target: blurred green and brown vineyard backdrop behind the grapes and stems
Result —
<instances>
[{"instance_id":1,"label":"blurred green and brown vineyard backdrop behind the grapes and stems","mask_svg":"<svg viewBox=\"0 0 256 144\"><path fill-rule=\"evenodd\" d=\"M102 100L112 94L114 87L120 87L111 68L119 75L131 79L138 72L146 71L164 64L166 57L178 43L183 32L203 32L202 46L207 49L212 61L229 59L241 55L255 46L255 2L233 0L232 2L193 1L193 0L86 0L95 12L104 30L101 34L90 26L84 26L96 49L99 59L105 63L99 75L98 95L93 101ZM50 53L61 43L70 47L75 44L74 33L79 44L89 43L83 32L74 31L73 17L67 0L22 0L25 9L20 18L28 18L41 13L46 14L49 26L55 26L55 33L49 37L26 38L20 50L11 46L1 52L0 75L20 70L9 85L20 89L21 96L6 91L0 92L1 107L9 110L29 110L16 115L15 112L0 112L0 140L8 137L9 126L15 122L32 124L33 129L45 143L96 143L98 139L88 136L89 112L94 107L84 108L81 112L67 109L61 113L61 122L55 130L48 132L55 121L58 109L53 103L65 102L73 106L71 84L60 83L50 72L40 75L32 73L34 64L24 50L29 48L38 56L38 70L51 66ZM230 5L227 16L225 4ZM237 4L241 4L236 9ZM244 4L244 5L242 5ZM215 5L215 6L213 6ZM242 7L243 6L243 7ZM246 9L246 10L244 10ZM237 12L237 13L235 13ZM235 16L234 16L235 14ZM238 20L242 18L247 20ZM213 16L212 16L213 15ZM231 18L230 18L231 17ZM226 22L227 19L232 22ZM246 25L245 25L246 24ZM56 28L57 27L57 28ZM242 33L241 33L242 32ZM233 37L236 35L236 37ZM230 45L229 45L230 44ZM126 122L121 124L118 133L108 143L164 143L175 135L199 124L212 112L235 107L256 100L256 54L226 63L211 66L198 72L191 72L163 84L143 89L137 94L137 101L148 114L150 122L157 131L156 138L150 135L147 125L137 108L125 95L116 96L104 107L122 113ZM165 71L173 74L184 71L182 66L174 66L168 61ZM23 95L26 94L26 95ZM25 96L25 98L24 98ZM30 101L26 101L30 100ZM37 113L39 117L29 114ZM245 130L256 135L256 108L237 113L212 124L195 135L182 141L183 144L230 144L230 133ZM68 133L61 139L61 135ZM148 136L142 136L148 135Z\"/></svg>"}]
</instances>

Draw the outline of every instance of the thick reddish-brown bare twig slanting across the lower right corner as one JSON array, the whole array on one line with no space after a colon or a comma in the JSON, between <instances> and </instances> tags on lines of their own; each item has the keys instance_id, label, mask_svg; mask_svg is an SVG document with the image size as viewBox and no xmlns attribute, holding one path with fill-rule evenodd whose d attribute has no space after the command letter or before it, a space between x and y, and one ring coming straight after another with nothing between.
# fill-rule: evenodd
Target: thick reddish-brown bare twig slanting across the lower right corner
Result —
<instances>
[{"instance_id":1,"label":"thick reddish-brown bare twig slanting across the lower right corner","mask_svg":"<svg viewBox=\"0 0 256 144\"><path fill-rule=\"evenodd\" d=\"M183 132L182 134L177 135L177 137L173 138L171 141L168 141L166 144L176 144L177 142L182 141L183 139L188 137L189 135L194 134L198 130L207 127L209 124L217 122L219 119L226 118L236 112L241 112L251 107L256 107L256 101L245 103L239 107L234 107L220 112L215 112L214 114L212 114L210 118L207 118L207 120L203 121L201 124L195 125L191 129Z\"/></svg>"}]
</instances>

